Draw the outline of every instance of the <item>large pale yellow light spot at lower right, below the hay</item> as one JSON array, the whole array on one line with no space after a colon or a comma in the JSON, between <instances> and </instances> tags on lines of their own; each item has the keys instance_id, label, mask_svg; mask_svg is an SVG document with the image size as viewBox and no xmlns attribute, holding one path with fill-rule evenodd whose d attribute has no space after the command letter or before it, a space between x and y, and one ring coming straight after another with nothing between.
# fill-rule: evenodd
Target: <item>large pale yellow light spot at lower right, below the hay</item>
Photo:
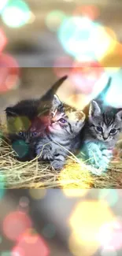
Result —
<instances>
[{"instance_id":1,"label":"large pale yellow light spot at lower right, below the hay","mask_svg":"<svg viewBox=\"0 0 122 256\"><path fill-rule=\"evenodd\" d=\"M99 247L99 230L107 221L113 221L114 216L104 201L79 202L69 218L72 236L69 239L70 250L77 255L92 255ZM87 251L87 245L88 251ZM76 248L76 253L74 250ZM79 249L79 252L78 252ZM84 252L86 251L86 253ZM89 252L89 254L88 254Z\"/></svg>"}]
</instances>

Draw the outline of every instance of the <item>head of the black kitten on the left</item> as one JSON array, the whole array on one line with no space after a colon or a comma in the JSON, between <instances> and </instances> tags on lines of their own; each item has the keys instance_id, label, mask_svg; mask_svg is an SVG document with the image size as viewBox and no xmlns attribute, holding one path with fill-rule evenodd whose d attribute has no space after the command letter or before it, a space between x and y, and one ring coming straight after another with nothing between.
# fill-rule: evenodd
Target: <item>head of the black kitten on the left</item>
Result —
<instances>
[{"instance_id":1,"label":"head of the black kitten on the left","mask_svg":"<svg viewBox=\"0 0 122 256\"><path fill-rule=\"evenodd\" d=\"M39 113L40 111L40 113ZM39 109L39 101L25 100L6 108L9 137L33 143L43 133L48 123L45 111Z\"/></svg>"}]
</instances>

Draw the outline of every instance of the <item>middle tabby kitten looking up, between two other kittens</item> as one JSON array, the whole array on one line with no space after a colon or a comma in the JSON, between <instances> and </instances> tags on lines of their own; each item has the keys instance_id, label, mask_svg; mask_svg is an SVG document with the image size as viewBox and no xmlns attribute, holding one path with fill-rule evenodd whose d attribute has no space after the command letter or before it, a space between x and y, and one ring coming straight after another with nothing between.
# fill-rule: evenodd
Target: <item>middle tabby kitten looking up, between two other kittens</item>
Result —
<instances>
[{"instance_id":1,"label":"middle tabby kitten looking up, between two other kittens","mask_svg":"<svg viewBox=\"0 0 122 256\"><path fill-rule=\"evenodd\" d=\"M80 142L85 114L81 110L67 106L54 95L50 111L50 125L36 146L39 160L50 161L53 169L62 169L68 151L76 152Z\"/></svg>"}]
</instances>

